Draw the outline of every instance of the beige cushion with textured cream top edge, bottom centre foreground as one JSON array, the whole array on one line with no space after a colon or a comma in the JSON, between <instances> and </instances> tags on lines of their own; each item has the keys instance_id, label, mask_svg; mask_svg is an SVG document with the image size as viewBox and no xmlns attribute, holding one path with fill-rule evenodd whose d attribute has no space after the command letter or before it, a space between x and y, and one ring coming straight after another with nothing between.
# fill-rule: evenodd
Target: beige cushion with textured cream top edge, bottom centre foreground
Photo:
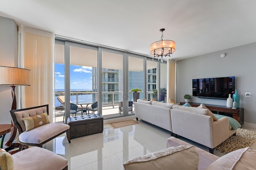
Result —
<instances>
[{"instance_id":1,"label":"beige cushion with textured cream top edge, bottom centre foreground","mask_svg":"<svg viewBox=\"0 0 256 170\"><path fill-rule=\"evenodd\" d=\"M194 146L170 147L124 162L125 170L197 170L199 156Z\"/></svg>"}]
</instances>

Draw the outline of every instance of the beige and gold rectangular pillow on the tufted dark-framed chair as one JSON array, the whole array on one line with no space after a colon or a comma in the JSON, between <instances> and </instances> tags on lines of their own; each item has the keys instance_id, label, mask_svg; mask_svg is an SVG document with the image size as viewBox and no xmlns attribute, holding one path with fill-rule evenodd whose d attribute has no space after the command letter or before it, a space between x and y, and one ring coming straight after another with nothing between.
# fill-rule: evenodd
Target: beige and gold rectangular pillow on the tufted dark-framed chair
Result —
<instances>
[{"instance_id":1,"label":"beige and gold rectangular pillow on the tufted dark-framed chair","mask_svg":"<svg viewBox=\"0 0 256 170\"><path fill-rule=\"evenodd\" d=\"M33 117L22 118L26 127L26 131L30 131L38 126L50 123L47 113L42 113Z\"/></svg>"}]
</instances>

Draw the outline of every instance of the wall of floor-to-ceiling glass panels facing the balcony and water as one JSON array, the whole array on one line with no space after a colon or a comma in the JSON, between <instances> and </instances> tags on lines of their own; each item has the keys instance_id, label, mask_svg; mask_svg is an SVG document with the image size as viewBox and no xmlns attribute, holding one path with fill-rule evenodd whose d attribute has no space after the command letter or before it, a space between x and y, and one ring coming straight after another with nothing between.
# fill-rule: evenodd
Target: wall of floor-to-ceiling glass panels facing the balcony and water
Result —
<instances>
[{"instance_id":1,"label":"wall of floor-to-ceiling glass panels facing the balcony and water","mask_svg":"<svg viewBox=\"0 0 256 170\"><path fill-rule=\"evenodd\" d=\"M85 111L86 106L89 108L91 104L99 102L95 113L102 114L105 119L132 115L134 100L132 93L128 91L140 88L140 99L150 100L154 97L159 100L158 81L166 79L166 73L158 75L159 68L164 67L162 65L166 66L160 66L159 61L148 60L141 55L57 40L55 106L57 108L65 101L72 102L79 106L78 109L83 107L84 113L79 112L80 115L88 113ZM73 116L69 114L69 110L60 109L56 121L63 121L64 112L68 117Z\"/></svg>"}]
</instances>

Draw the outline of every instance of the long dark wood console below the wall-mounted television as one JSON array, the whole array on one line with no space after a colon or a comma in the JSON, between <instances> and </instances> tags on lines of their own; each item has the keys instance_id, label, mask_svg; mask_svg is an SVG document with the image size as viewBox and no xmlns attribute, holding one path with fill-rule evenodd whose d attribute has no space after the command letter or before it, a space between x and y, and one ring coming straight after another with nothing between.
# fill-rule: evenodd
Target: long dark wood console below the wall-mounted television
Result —
<instances>
[{"instance_id":1,"label":"long dark wood console below the wall-mounted television","mask_svg":"<svg viewBox=\"0 0 256 170\"><path fill-rule=\"evenodd\" d=\"M180 105L184 105L186 102L180 102ZM200 103L189 103L192 107L198 107ZM241 125L244 124L244 108L239 107L237 109L228 108L226 106L204 104L212 113L233 117Z\"/></svg>"}]
</instances>

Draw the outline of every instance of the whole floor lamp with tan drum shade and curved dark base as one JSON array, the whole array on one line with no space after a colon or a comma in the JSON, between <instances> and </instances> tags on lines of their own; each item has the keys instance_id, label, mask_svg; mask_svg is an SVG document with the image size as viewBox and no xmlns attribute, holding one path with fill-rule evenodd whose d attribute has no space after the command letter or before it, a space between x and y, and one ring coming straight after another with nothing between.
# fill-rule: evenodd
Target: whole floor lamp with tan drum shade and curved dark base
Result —
<instances>
[{"instance_id":1,"label":"whole floor lamp with tan drum shade and curved dark base","mask_svg":"<svg viewBox=\"0 0 256 170\"><path fill-rule=\"evenodd\" d=\"M12 110L16 108L16 86L30 86L30 70L24 68L0 66L0 86L11 86L12 89ZM13 120L11 118L11 122ZM6 142L6 146L12 148L19 147L19 143L12 143L16 137L17 127L14 125L10 139Z\"/></svg>"}]
</instances>

